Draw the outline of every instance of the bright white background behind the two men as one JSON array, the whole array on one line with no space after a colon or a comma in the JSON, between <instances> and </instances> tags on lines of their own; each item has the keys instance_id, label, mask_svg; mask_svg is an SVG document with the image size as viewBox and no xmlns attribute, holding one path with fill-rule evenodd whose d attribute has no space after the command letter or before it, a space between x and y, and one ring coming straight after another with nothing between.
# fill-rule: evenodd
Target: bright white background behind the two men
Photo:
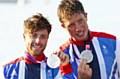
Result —
<instances>
[{"instance_id":1,"label":"bright white background behind the two men","mask_svg":"<svg viewBox=\"0 0 120 79\"><path fill-rule=\"evenodd\" d=\"M23 20L36 12L41 12L47 17L53 28L45 52L54 51L69 37L57 18L56 10L60 0L26 1L27 3L24 3L24 0L19 0L17 4L0 3L0 67L1 64L24 54ZM103 31L120 37L118 9L120 0L81 0L81 2L88 13L90 30Z\"/></svg>"}]
</instances>

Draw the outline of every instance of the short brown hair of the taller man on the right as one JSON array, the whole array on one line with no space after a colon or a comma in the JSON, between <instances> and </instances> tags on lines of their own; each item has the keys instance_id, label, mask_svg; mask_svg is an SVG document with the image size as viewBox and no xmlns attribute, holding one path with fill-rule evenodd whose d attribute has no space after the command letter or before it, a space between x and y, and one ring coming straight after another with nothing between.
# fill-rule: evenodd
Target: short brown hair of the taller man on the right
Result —
<instances>
[{"instance_id":1,"label":"short brown hair of the taller man on the right","mask_svg":"<svg viewBox=\"0 0 120 79\"><path fill-rule=\"evenodd\" d=\"M72 15L79 12L85 12L79 0L62 0L57 10L61 22L63 19L69 19Z\"/></svg>"}]
</instances>

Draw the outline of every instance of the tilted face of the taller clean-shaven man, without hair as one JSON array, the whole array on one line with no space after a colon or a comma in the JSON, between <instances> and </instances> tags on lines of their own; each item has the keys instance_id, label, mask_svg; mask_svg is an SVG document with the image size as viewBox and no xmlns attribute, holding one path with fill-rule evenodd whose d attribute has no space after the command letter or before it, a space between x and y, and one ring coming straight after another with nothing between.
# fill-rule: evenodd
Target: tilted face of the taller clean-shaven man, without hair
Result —
<instances>
[{"instance_id":1,"label":"tilted face of the taller clean-shaven man, without hair","mask_svg":"<svg viewBox=\"0 0 120 79\"><path fill-rule=\"evenodd\" d=\"M86 13L75 13L69 19L64 19L64 28L73 40L86 40L88 37L88 25Z\"/></svg>"}]
</instances>

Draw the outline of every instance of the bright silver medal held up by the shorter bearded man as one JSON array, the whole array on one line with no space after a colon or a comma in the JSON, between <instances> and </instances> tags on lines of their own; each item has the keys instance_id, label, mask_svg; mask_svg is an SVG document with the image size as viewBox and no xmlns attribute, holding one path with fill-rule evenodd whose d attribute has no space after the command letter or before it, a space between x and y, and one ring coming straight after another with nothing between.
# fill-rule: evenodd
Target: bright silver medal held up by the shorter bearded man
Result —
<instances>
[{"instance_id":1,"label":"bright silver medal held up by the shorter bearded man","mask_svg":"<svg viewBox=\"0 0 120 79\"><path fill-rule=\"evenodd\" d=\"M50 68L57 68L57 67L59 67L59 65L60 65L59 57L57 55L55 55L55 54L49 55L48 59L47 59L47 65Z\"/></svg>"}]
</instances>

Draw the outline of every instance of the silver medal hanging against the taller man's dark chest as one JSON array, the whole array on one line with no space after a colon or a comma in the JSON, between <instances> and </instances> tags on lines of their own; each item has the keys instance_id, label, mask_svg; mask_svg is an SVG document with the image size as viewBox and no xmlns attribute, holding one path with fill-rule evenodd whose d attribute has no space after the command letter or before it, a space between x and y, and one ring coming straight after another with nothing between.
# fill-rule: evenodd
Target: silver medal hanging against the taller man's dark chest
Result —
<instances>
[{"instance_id":1,"label":"silver medal hanging against the taller man's dark chest","mask_svg":"<svg viewBox=\"0 0 120 79\"><path fill-rule=\"evenodd\" d=\"M91 50L84 50L81 52L81 59L86 59L87 63L92 62L93 54Z\"/></svg>"}]
</instances>

